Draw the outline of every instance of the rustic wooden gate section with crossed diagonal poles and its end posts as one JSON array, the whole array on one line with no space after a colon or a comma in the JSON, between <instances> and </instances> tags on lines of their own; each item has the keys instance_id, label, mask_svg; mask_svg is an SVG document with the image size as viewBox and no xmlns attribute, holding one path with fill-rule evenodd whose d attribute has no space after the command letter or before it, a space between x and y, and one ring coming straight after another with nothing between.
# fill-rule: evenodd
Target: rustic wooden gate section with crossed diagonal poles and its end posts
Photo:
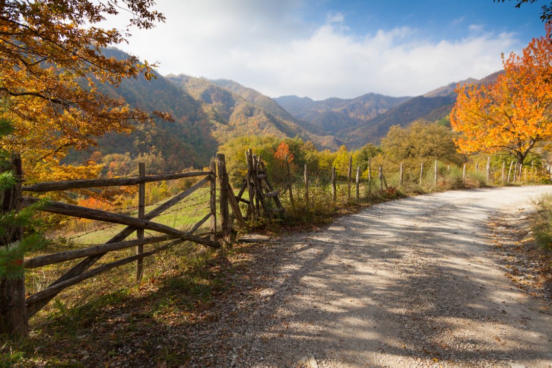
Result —
<instances>
[{"instance_id":1,"label":"rustic wooden gate section with crossed diagonal poles and its end posts","mask_svg":"<svg viewBox=\"0 0 552 368\"><path fill-rule=\"evenodd\" d=\"M244 226L245 221L240 212L238 199L233 193L226 173L226 162L224 154L217 154L216 160L211 162L208 171L187 171L181 173L146 175L145 164L139 164L139 175L133 178L113 178L113 179L91 179L91 180L66 180L63 182L45 182L28 186L22 186L21 161L18 157L13 159L14 172L17 174L19 182L14 188L3 191L1 194L2 211L20 211L23 207L35 204L38 198L23 196L23 192L45 193L50 191L65 191L84 188L99 188L105 186L126 186L138 185L138 214L137 217L131 217L119 213L91 209L73 204L66 204L56 201L48 201L40 207L41 211L52 214L73 216L77 218L86 218L89 220L104 221L113 224L125 225L119 233L113 236L104 244L67 250L54 254L40 255L29 259L21 259L25 269L37 268L40 266L56 264L73 259L81 259L65 274L52 282L45 289L36 292L25 298L24 277L15 279L3 279L0 289L0 331L13 335L26 335L28 333L28 319L43 308L60 291L78 284L84 280L93 278L117 266L136 263L136 279L142 277L143 259L161 250L175 246L184 241L190 241L212 248L221 248L222 246L231 246L232 244L232 222L229 207L232 209L233 217L238 225ZM164 201L155 209L145 213L145 184L160 182L162 180L174 180L182 178L201 178L197 183L177 194L173 198ZM217 209L216 209L216 186L217 182L220 188L219 211L221 231L217 231ZM189 231L182 231L176 228L163 225L153 220L166 212L169 208L183 201L194 191L202 186L209 185L209 212L200 221L195 223ZM243 191L242 191L243 193ZM195 232L210 220L209 232L195 234ZM7 229L9 236L0 238L1 247L7 249L18 242L23 234L21 228ZM144 237L144 230L151 230L161 233L159 236ZM125 241L132 233L136 231L136 239ZM220 239L220 240L219 240ZM160 247L144 252L145 244L161 243ZM136 254L131 257L116 260L102 266L91 269L108 252L114 250L135 248Z\"/></svg>"}]
</instances>

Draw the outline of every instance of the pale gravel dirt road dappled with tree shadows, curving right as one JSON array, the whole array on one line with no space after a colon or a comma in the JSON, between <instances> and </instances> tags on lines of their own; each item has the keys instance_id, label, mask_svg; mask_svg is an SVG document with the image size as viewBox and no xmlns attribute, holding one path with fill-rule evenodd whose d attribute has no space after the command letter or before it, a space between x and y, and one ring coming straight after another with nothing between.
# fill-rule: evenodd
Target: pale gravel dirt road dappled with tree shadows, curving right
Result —
<instances>
[{"instance_id":1,"label":"pale gravel dirt road dappled with tree shadows, curving right","mask_svg":"<svg viewBox=\"0 0 552 368\"><path fill-rule=\"evenodd\" d=\"M312 353L319 367L552 367L552 308L506 278L486 227L551 191L417 196L278 239L252 265L269 265L258 286L209 327L209 339L222 336L215 359L288 367Z\"/></svg>"}]
</instances>

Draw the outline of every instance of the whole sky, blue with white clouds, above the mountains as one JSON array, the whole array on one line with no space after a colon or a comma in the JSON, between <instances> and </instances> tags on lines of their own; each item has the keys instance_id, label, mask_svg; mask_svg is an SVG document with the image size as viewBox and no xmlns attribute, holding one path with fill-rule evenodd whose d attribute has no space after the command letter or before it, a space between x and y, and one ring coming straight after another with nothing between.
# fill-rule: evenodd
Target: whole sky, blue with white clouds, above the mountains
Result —
<instances>
[{"instance_id":1,"label":"whole sky, blue with white clouds, above the mountains","mask_svg":"<svg viewBox=\"0 0 552 368\"><path fill-rule=\"evenodd\" d=\"M118 47L161 74L233 79L270 97L419 95L500 70L501 52L543 35L542 4L515 4L158 0L167 22Z\"/></svg>"}]
</instances>

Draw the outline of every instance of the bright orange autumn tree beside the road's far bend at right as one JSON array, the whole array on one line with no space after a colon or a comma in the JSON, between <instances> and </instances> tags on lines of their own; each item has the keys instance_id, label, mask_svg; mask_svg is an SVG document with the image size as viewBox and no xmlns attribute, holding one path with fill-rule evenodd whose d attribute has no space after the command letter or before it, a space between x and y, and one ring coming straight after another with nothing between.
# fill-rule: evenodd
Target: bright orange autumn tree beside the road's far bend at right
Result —
<instances>
[{"instance_id":1,"label":"bright orange autumn tree beside the road's far bend at right","mask_svg":"<svg viewBox=\"0 0 552 368\"><path fill-rule=\"evenodd\" d=\"M539 141L552 139L552 26L522 55L512 52L504 73L485 86L459 86L450 122L463 133L459 151L511 153L518 163Z\"/></svg>"}]
</instances>

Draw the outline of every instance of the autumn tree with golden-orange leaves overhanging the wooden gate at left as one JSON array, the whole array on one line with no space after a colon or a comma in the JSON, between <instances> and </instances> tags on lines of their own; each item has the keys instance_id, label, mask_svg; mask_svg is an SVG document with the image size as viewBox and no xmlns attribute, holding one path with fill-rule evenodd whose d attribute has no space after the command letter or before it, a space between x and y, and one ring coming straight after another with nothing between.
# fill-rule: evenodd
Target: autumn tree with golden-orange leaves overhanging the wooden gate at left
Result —
<instances>
[{"instance_id":1,"label":"autumn tree with golden-orange leaves overhanging the wooden gate at left","mask_svg":"<svg viewBox=\"0 0 552 368\"><path fill-rule=\"evenodd\" d=\"M12 134L0 148L22 154L29 181L94 177L100 165L61 165L70 148L83 150L106 132L129 132L155 116L100 92L124 78L152 77L137 57L116 60L102 49L128 38L130 26L162 22L152 0L6 0L0 2L0 119ZM98 26L107 15L128 16L126 29Z\"/></svg>"}]
</instances>

